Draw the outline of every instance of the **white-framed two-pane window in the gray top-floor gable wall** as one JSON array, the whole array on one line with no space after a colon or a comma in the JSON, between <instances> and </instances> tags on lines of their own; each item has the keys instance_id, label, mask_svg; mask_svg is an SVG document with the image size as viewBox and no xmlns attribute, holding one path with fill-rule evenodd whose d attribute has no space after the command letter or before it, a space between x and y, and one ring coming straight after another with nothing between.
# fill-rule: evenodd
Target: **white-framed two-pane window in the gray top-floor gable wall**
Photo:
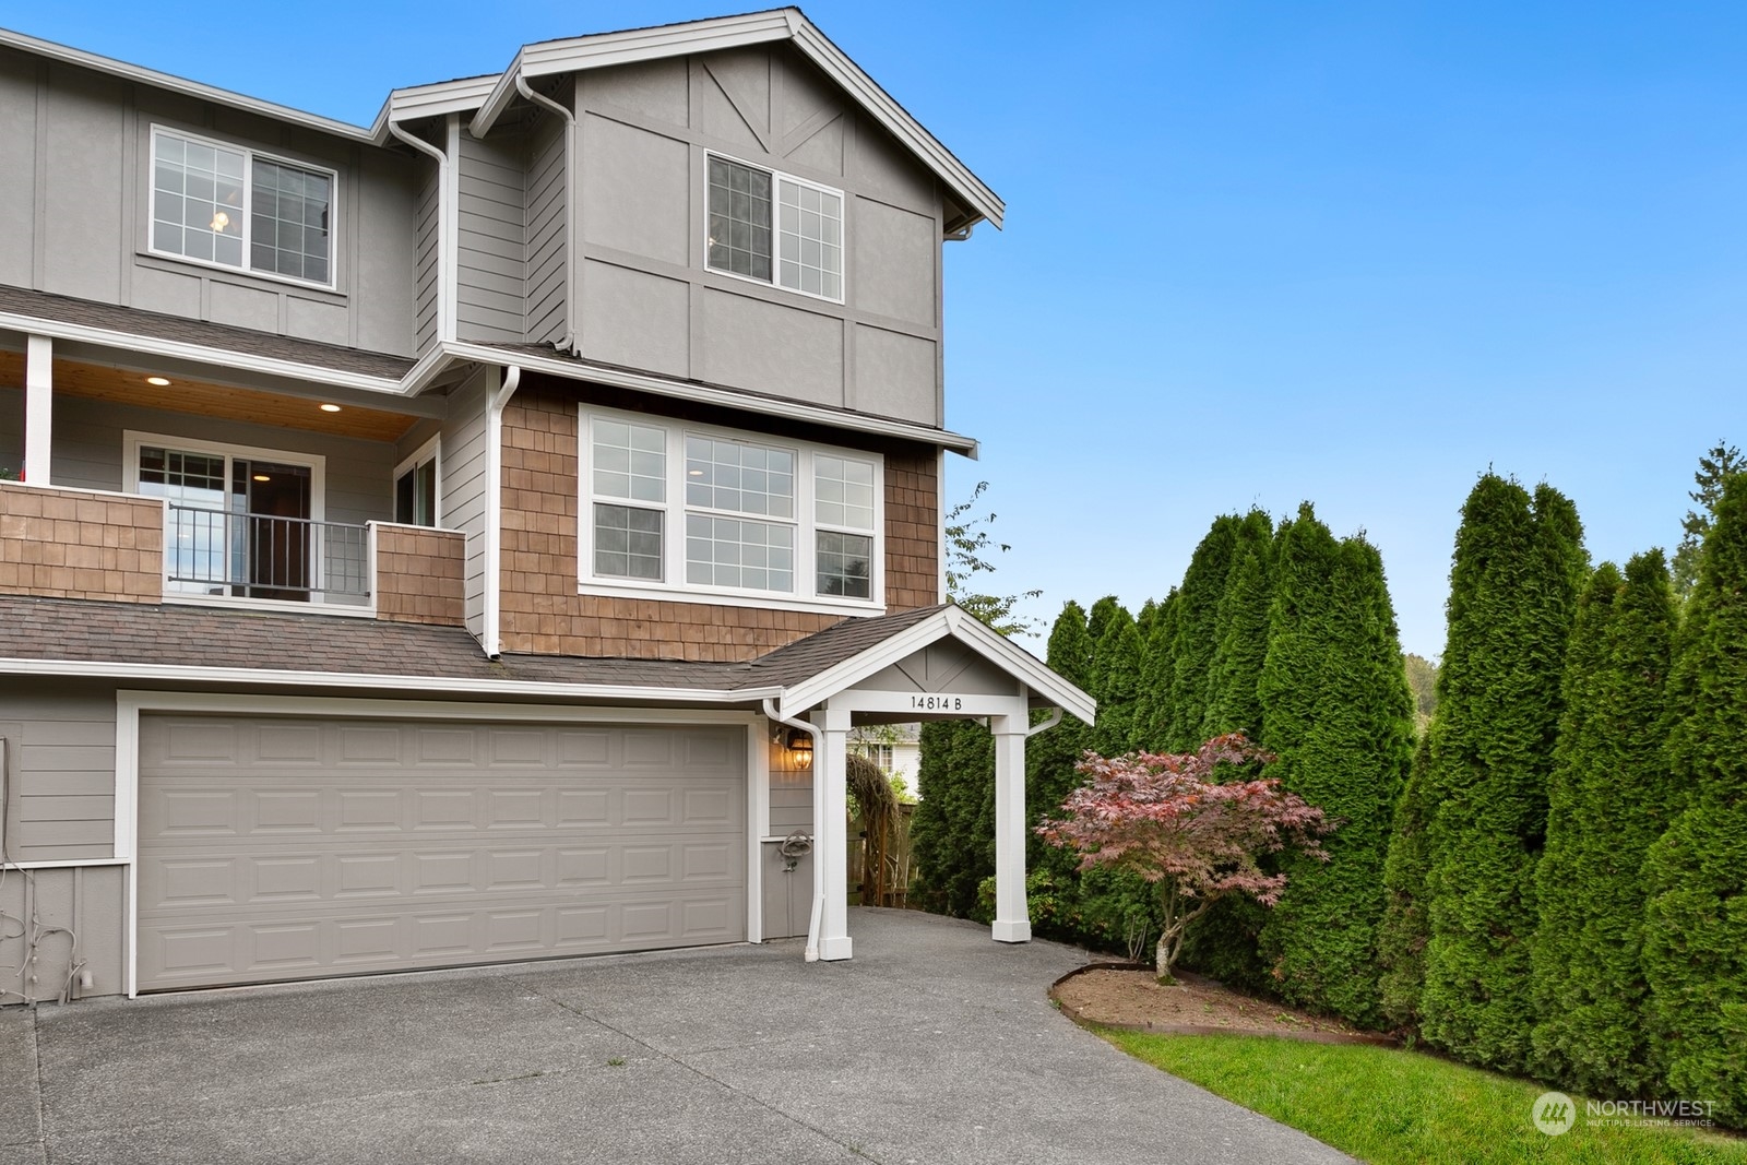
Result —
<instances>
[{"instance_id":1,"label":"white-framed two-pane window in the gray top-floor gable wall","mask_svg":"<svg viewBox=\"0 0 1747 1165\"><path fill-rule=\"evenodd\" d=\"M844 302L844 192L732 157L708 159L711 271Z\"/></svg>"}]
</instances>

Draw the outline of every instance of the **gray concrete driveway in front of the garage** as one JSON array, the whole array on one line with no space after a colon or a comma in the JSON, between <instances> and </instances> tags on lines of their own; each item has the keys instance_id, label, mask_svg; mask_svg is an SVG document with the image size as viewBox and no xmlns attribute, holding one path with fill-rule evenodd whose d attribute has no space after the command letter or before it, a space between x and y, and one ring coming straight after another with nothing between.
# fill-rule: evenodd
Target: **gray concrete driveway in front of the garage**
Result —
<instances>
[{"instance_id":1,"label":"gray concrete driveway in front of the garage","mask_svg":"<svg viewBox=\"0 0 1747 1165\"><path fill-rule=\"evenodd\" d=\"M0 1165L1347 1160L1062 1018L1078 950L851 934L0 1011Z\"/></svg>"}]
</instances>

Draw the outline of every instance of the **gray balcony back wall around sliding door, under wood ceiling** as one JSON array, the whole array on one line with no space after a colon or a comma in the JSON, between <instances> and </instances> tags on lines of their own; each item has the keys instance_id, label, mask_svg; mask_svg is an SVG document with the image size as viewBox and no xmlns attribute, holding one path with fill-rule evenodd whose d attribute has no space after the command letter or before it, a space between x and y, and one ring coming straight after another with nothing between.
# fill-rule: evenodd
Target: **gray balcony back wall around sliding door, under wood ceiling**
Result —
<instances>
[{"instance_id":1,"label":"gray balcony back wall around sliding door, under wood ceiling","mask_svg":"<svg viewBox=\"0 0 1747 1165\"><path fill-rule=\"evenodd\" d=\"M54 398L51 459L54 484L75 489L124 489L128 430L222 445L318 454L327 461L325 520L362 524L393 517L395 445L390 442L327 437L307 430L271 428L194 412L162 412L82 396Z\"/></svg>"}]
</instances>

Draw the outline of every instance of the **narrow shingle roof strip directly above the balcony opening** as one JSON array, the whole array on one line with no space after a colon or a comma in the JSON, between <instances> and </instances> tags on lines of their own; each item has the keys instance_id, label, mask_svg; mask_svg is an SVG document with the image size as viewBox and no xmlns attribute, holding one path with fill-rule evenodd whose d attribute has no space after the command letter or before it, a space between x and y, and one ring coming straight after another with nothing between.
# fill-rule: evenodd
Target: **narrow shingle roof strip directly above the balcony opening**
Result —
<instances>
[{"instance_id":1,"label":"narrow shingle roof strip directly above the balcony opening","mask_svg":"<svg viewBox=\"0 0 1747 1165\"><path fill-rule=\"evenodd\" d=\"M161 311L143 311L140 307L119 307L115 304L98 304L89 299L72 295L52 295L49 292L31 292L21 286L0 283L0 311L33 320L79 323L105 332L122 332L147 339L176 341L197 344L218 351L246 353L252 356L271 356L290 363L304 363L316 369L335 369L339 372L356 372L362 376L379 376L398 381L412 369L412 362L402 356L365 351L362 348L342 348L339 344L321 344L318 341L300 341L271 332L255 332L229 323L206 323L185 316L169 316Z\"/></svg>"}]
</instances>

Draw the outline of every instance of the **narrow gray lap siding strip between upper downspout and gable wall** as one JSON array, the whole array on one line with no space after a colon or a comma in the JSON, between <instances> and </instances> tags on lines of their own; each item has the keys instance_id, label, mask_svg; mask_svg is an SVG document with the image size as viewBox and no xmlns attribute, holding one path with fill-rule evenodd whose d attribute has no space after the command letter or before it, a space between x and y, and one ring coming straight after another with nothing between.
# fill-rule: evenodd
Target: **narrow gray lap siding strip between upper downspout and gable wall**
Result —
<instances>
[{"instance_id":1,"label":"narrow gray lap siding strip between upper downspout and gable wall","mask_svg":"<svg viewBox=\"0 0 1747 1165\"><path fill-rule=\"evenodd\" d=\"M456 334L463 341L521 344L528 307L522 229L528 141L461 134Z\"/></svg>"}]
</instances>

